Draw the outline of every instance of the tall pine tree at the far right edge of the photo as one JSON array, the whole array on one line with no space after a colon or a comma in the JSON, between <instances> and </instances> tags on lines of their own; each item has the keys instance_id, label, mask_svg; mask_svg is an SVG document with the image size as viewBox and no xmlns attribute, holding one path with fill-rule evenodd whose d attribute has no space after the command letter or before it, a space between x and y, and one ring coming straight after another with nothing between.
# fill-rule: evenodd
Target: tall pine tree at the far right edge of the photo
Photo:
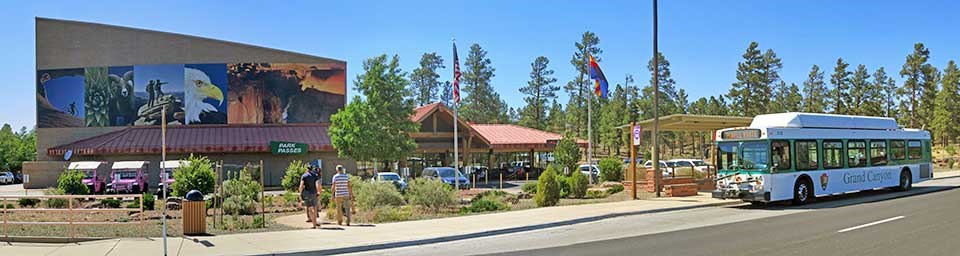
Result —
<instances>
[{"instance_id":1,"label":"tall pine tree at the far right edge of the photo","mask_svg":"<svg viewBox=\"0 0 960 256\"><path fill-rule=\"evenodd\" d=\"M933 128L935 136L943 146L960 135L960 127L954 120L960 115L960 70L954 61L947 63L943 70L942 89L937 92L936 109L933 113Z\"/></svg>"}]
</instances>

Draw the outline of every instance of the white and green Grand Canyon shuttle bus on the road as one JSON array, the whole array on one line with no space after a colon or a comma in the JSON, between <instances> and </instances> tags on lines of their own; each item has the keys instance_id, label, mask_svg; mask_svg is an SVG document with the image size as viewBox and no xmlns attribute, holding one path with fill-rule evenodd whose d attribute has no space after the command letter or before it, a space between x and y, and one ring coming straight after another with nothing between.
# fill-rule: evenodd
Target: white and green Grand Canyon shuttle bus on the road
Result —
<instances>
[{"instance_id":1,"label":"white and green Grand Canyon shuttle bus on the road","mask_svg":"<svg viewBox=\"0 0 960 256\"><path fill-rule=\"evenodd\" d=\"M714 198L792 200L893 188L933 178L930 133L892 118L780 113L717 131Z\"/></svg>"}]
</instances>

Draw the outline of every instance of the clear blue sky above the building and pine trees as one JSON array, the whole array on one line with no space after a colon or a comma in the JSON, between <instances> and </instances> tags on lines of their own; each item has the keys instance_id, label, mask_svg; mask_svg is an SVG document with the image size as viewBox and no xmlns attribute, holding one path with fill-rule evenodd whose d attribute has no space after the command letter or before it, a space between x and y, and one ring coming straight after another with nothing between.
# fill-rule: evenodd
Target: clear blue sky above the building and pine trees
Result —
<instances>
[{"instance_id":1,"label":"clear blue sky above the building and pine trees","mask_svg":"<svg viewBox=\"0 0 960 256\"><path fill-rule=\"evenodd\" d=\"M689 100L726 93L751 41L783 60L781 78L800 85L814 64L832 72L837 58L885 67L896 75L913 44L930 49L942 69L960 60L957 1L710 1L659 3L659 50ZM480 44L496 68L492 84L512 107L537 56L550 59L558 85L573 79L570 59L584 31L600 38L600 66L611 85L627 74L649 83L653 55L651 1L29 1L0 10L0 122L34 126L34 18L78 20L234 41L348 63L348 99L363 60L397 54L405 71L426 52L445 61L452 77L451 40L461 64ZM561 103L567 96L559 97Z\"/></svg>"}]
</instances>

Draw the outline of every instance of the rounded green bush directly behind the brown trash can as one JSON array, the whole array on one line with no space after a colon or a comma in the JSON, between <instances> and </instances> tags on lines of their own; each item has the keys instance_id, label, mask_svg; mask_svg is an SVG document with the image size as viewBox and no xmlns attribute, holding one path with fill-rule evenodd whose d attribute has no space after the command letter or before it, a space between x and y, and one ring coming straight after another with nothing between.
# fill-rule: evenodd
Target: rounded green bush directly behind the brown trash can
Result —
<instances>
[{"instance_id":1,"label":"rounded green bush directly behind the brown trash can","mask_svg":"<svg viewBox=\"0 0 960 256\"><path fill-rule=\"evenodd\" d=\"M173 171L174 196L185 196L190 190L199 190L200 193L213 193L213 185L216 183L216 174L213 172L213 163L205 156L190 155L187 158L187 165L181 165Z\"/></svg>"}]
</instances>

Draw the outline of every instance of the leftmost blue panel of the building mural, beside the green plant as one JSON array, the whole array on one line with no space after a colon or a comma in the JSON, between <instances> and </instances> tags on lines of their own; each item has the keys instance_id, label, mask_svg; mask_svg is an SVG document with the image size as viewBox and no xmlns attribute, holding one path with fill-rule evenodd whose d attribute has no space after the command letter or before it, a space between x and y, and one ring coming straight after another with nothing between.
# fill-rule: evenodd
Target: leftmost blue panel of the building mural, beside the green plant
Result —
<instances>
[{"instance_id":1,"label":"leftmost blue panel of the building mural, beside the green plant","mask_svg":"<svg viewBox=\"0 0 960 256\"><path fill-rule=\"evenodd\" d=\"M37 71L37 127L80 127L85 116L83 69Z\"/></svg>"}]
</instances>

